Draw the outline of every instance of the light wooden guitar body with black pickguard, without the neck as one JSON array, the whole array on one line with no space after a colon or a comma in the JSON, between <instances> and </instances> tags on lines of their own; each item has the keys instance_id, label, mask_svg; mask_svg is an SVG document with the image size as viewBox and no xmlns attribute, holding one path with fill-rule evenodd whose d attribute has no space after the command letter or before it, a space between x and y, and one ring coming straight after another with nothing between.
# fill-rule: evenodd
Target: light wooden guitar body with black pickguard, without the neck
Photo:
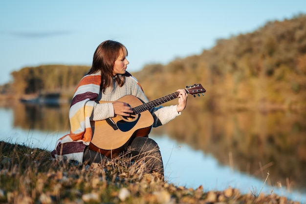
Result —
<instances>
[{"instance_id":1,"label":"light wooden guitar body with black pickguard, without the neck","mask_svg":"<svg viewBox=\"0 0 306 204\"><path fill-rule=\"evenodd\" d=\"M131 107L143 104L137 97L132 95L124 96L116 102L126 102ZM153 117L149 110L131 115L130 117L117 115L107 120L92 122L93 136L91 139L91 149L97 151L96 148L98 148L99 152L108 156L108 150L119 151L132 136L147 136L151 131L152 125ZM117 151L114 151L114 153Z\"/></svg>"}]
</instances>

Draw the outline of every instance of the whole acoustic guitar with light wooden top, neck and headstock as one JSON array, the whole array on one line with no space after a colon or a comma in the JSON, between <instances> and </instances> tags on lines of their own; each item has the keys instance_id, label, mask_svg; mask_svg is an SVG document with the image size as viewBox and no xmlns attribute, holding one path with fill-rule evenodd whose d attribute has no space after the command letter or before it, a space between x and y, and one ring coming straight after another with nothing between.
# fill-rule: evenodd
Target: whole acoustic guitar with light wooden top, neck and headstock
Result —
<instances>
[{"instance_id":1,"label":"whole acoustic guitar with light wooden top, neck and headstock","mask_svg":"<svg viewBox=\"0 0 306 204\"><path fill-rule=\"evenodd\" d=\"M187 86L186 93L200 95L206 92L201 84ZM89 148L110 156L109 150L119 150L131 137L147 136L153 125L153 116L150 109L178 97L179 92L169 94L151 102L143 103L133 95L127 95L116 102L126 102L131 105L133 113L130 116L116 115L102 121L92 122L93 136ZM203 94L204 95L204 94ZM100 101L99 103L107 103ZM115 156L113 151L112 157Z\"/></svg>"}]
</instances>

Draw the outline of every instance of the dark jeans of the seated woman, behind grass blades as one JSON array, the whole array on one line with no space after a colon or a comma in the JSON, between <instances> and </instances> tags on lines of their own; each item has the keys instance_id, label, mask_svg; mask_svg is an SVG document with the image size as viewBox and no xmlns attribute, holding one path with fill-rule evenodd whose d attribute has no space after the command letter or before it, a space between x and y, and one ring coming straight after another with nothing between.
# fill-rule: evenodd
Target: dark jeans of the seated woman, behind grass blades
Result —
<instances>
[{"instance_id":1,"label":"dark jeans of the seated woman, behind grass blades","mask_svg":"<svg viewBox=\"0 0 306 204\"><path fill-rule=\"evenodd\" d=\"M123 152L131 157L134 162L143 161L148 173L156 172L164 177L164 165L157 143L148 137L135 137ZM102 163L104 165L110 159L100 153L86 148L84 151L84 163Z\"/></svg>"}]
</instances>

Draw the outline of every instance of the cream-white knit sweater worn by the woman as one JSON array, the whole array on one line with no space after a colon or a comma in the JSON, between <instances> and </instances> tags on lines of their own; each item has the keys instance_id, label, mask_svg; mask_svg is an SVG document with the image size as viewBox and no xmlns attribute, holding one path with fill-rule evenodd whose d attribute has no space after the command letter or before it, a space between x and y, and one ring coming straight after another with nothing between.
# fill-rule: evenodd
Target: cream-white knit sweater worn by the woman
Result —
<instances>
[{"instance_id":1,"label":"cream-white knit sweater worn by the woman","mask_svg":"<svg viewBox=\"0 0 306 204\"><path fill-rule=\"evenodd\" d=\"M114 117L112 102L126 95L136 96L145 103L149 102L140 86L132 77L126 77L126 82L122 87L119 87L118 84L113 81L113 87L106 88L105 93L100 91L97 99L97 101L107 101L109 103L96 103L92 111L91 120L100 121ZM166 124L180 115L180 112L178 113L176 111L176 105L154 107L150 112L154 119L153 127Z\"/></svg>"}]
</instances>

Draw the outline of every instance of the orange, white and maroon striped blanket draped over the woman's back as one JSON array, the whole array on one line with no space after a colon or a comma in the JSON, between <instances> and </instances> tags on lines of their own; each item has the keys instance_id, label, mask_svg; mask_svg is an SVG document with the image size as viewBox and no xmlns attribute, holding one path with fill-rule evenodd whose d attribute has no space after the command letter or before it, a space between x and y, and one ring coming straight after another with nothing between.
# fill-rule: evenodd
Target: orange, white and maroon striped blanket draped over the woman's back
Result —
<instances>
[{"instance_id":1,"label":"orange, white and maroon striped blanket draped over the woman's back","mask_svg":"<svg viewBox=\"0 0 306 204\"><path fill-rule=\"evenodd\" d=\"M69 109L70 133L60 138L52 157L83 162L84 149L92 138L90 116L100 92L101 72L86 75L79 82Z\"/></svg>"}]
</instances>

